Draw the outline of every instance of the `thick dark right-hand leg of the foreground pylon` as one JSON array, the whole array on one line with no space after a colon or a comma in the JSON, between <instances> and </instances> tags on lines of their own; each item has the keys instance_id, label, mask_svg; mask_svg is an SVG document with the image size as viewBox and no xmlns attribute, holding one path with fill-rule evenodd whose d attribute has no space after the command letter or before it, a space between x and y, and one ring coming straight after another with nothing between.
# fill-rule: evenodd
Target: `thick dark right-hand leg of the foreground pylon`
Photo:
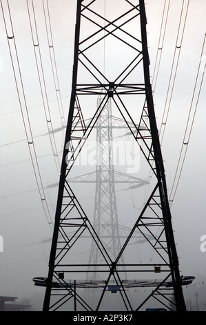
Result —
<instances>
[{"instance_id":1,"label":"thick dark right-hand leg of the foreground pylon","mask_svg":"<svg viewBox=\"0 0 206 325\"><path fill-rule=\"evenodd\" d=\"M161 206L163 210L163 219L165 225L165 235L167 239L167 249L169 255L169 262L172 271L172 279L174 281L174 297L176 300L176 308L178 311L185 311L185 301L181 287L181 277L178 269L178 256L176 252L176 245L174 242L174 235L172 230L172 217L169 209L169 202L167 198L167 186L165 180L165 169L163 165L163 158L161 154L161 145L158 137L158 129L156 126L156 118L154 113L154 103L152 97L152 86L150 84L150 60L147 50L147 32L146 32L146 13L144 0L140 0L141 10L141 35L143 44L143 66L145 76L146 101L148 109L148 117L150 120L150 127L152 133L152 145L154 148L154 160L156 165L156 177L158 180L158 189L161 197Z\"/></svg>"}]
</instances>

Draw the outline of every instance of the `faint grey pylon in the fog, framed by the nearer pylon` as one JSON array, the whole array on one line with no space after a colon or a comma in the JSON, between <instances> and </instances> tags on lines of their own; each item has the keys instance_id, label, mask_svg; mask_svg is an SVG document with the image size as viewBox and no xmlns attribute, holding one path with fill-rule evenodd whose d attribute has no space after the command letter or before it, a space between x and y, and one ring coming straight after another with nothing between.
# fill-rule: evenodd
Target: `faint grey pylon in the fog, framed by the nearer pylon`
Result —
<instances>
[{"instance_id":1,"label":"faint grey pylon in the fog, framed by the nearer pylon","mask_svg":"<svg viewBox=\"0 0 206 325\"><path fill-rule=\"evenodd\" d=\"M130 232L125 225L119 225L118 212L116 207L116 191L115 183L127 184L130 189L131 183L135 188L147 185L146 180L141 180L134 176L123 174L114 169L114 152L113 152L113 129L127 129L124 120L119 120L112 115L111 98L107 102L102 101L102 95L99 95L97 100L97 107L101 109L104 106L101 115L96 122L96 171L90 174L84 174L74 178L70 178L70 183L95 183L94 195L94 229L103 241L107 252L110 252L112 259L116 259L125 239ZM132 125L131 125L132 126ZM116 163L120 163L116 161ZM124 189L125 190L125 189ZM138 233L136 238L143 241L143 236ZM98 273L98 265L103 262L102 254L96 246L95 241L92 241L90 249L90 257L88 261L88 272L86 281L93 281L101 279ZM121 263L124 264L123 260ZM96 265L95 272L90 276L92 266ZM90 301L92 306L95 306L96 301L100 295L100 290L90 290L85 288L85 299Z\"/></svg>"}]
</instances>

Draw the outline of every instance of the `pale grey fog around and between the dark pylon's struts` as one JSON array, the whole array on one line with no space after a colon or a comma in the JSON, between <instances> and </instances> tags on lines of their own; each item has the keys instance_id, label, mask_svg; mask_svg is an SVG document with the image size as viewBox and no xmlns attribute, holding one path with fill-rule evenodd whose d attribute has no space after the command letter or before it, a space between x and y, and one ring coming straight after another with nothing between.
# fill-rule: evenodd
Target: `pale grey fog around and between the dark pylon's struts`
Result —
<instances>
[{"instance_id":1,"label":"pale grey fog around and between the dark pylon's struts","mask_svg":"<svg viewBox=\"0 0 206 325\"><path fill-rule=\"evenodd\" d=\"M106 1L106 8L108 15L112 17L116 12L116 1L114 0L114 6L110 6L109 2L109 0ZM34 34L33 39L27 1L9 1L12 26L8 15L7 1L2 0L1 3L0 235L3 247L0 249L0 295L18 297L18 301L24 298L30 299L32 308L41 310L45 289L34 286L32 279L34 277L47 277L48 275L52 223L54 222L58 192L58 186L52 185L58 185L59 183L65 124L70 106L76 0L48 1L52 27L52 39L51 36L49 39L50 44L54 45L58 80L56 75L53 80L50 61L50 55L53 52L48 48L42 1L34 1L38 35ZM204 310L206 307L206 245L204 245L206 229L205 190L203 187L206 181L206 85L205 79L202 80L202 77L204 76L206 62L206 49L203 48L206 32L206 3L204 0L189 1L183 33L183 22L187 8L187 1L185 1L183 21L178 34L182 1L170 1L165 37L159 39L164 3L166 3L165 10L167 10L169 1L147 0L145 6L154 107L158 130L161 130L161 149L165 163L172 225L181 275L196 277L191 285L183 288L183 293L188 308L194 309L198 303L198 308ZM32 12L32 2L28 1L28 4L30 12ZM121 8L119 10L121 11ZM8 39L6 35L3 18L5 18L8 28L7 35L12 36L13 29L17 45L19 62L17 59L13 62L14 69L17 72L17 80L14 79L8 41L11 45L13 58L15 57L15 48L12 39ZM48 22L48 18L46 21ZM82 32L87 35L90 27L88 23L88 29ZM163 32L161 35L163 35ZM182 35L183 39L181 39ZM43 80L42 71L40 71L41 82L42 84L45 82L46 91L39 86L34 55L34 50L38 54L37 48L34 48L37 41L39 41L39 48L41 45L41 58L45 77L45 80ZM181 48L179 48L180 44ZM158 55L158 58L161 55L159 66L158 61L156 62L156 55ZM101 55L98 55L98 53L95 55L94 53L94 58L96 63L101 64L103 62L103 53ZM119 67L121 67L124 58L119 53L115 53L115 44L106 41L105 62L114 62L117 58ZM52 62L54 64L54 57L52 57ZM21 67L21 75L19 75L18 63ZM199 64L200 68L198 70ZM107 64L105 64L105 71L110 75L111 80L119 73L119 71L112 70L111 66ZM176 76L174 79L175 71ZM86 80L87 75L85 74ZM16 81L20 89L22 82L24 93L22 89L21 93L17 93ZM59 89L56 86L59 86ZM22 107L19 104L19 96ZM89 108L95 112L96 97L92 100L93 107ZM46 104L43 104L43 102ZM130 102L128 105L130 106ZM91 106L91 102L85 102L85 106ZM83 113L85 120L90 118L89 109ZM115 108L113 115L121 118ZM136 121L139 121L138 116L136 116ZM28 145L25 125L28 131L28 139L32 135L35 147ZM50 135L51 129L56 130L54 138ZM189 131L191 131L191 134ZM124 130L114 130L113 136L114 138L119 137L123 141L125 139L124 132ZM96 130L94 129L91 133L91 139L95 140L95 137ZM183 145L184 142L185 145ZM181 150L182 155L180 156ZM31 160L30 154L34 158L33 160ZM93 156L90 157L91 159L94 158ZM84 157L82 156L82 158ZM32 161L34 165L32 165ZM76 164L71 178L95 172L94 160L92 160L92 163L90 161L88 166L86 164ZM145 179L148 169L143 165L141 159L138 163L138 168L133 176ZM127 171L126 167L122 163L117 169L125 173ZM34 169L39 170L39 174L35 175ZM41 175L41 178L39 178L39 175ZM40 189L40 191L37 183L43 185L43 189ZM143 202L145 192L140 192L138 189L129 191L127 188L127 183L116 185L116 200L120 225L131 228L135 221L136 210L140 207L135 198L139 197ZM84 183L79 186L78 183L75 183L72 184L72 189L78 194L79 201L85 212L88 215L93 215L95 184ZM43 200L43 198L46 198L46 200ZM123 202L127 202L127 205L122 204ZM130 215L131 219L127 218L125 220L125 215ZM130 248L128 248L128 252L130 253ZM87 260L90 253L90 244L80 242L77 252L74 253L74 258L78 259L81 255L82 259ZM127 256L127 252L125 252L125 255ZM140 261L144 261L144 259L145 261L150 259L150 252L144 257L139 256ZM136 297L136 289L134 288L131 291L131 294ZM141 291L143 290L141 289ZM196 293L198 294L198 301L196 300Z\"/></svg>"}]
</instances>

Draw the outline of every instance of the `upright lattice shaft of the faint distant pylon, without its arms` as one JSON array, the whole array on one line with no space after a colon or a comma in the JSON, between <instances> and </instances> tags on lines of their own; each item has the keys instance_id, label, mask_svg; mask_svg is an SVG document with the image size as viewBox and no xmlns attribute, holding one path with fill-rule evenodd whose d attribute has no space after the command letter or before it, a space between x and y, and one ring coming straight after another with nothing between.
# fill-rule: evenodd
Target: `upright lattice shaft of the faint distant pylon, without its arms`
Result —
<instances>
[{"instance_id":1,"label":"upright lattice shaft of the faint distant pylon, without its arms","mask_svg":"<svg viewBox=\"0 0 206 325\"><path fill-rule=\"evenodd\" d=\"M114 188L114 165L112 148L112 107L111 100L102 102L101 95L97 100L97 106L104 109L96 122L96 192L94 203L94 229L101 240L105 243L105 248L112 259L116 259L121 250L119 224L116 210L116 197ZM87 272L87 281L96 281L99 278L98 265L101 265L103 258L101 252L96 247L95 241L92 241L89 267ZM90 266L91 265L91 266ZM94 266L92 278L90 270ZM97 290L85 289L85 299L92 306L98 299L100 292Z\"/></svg>"}]
</instances>

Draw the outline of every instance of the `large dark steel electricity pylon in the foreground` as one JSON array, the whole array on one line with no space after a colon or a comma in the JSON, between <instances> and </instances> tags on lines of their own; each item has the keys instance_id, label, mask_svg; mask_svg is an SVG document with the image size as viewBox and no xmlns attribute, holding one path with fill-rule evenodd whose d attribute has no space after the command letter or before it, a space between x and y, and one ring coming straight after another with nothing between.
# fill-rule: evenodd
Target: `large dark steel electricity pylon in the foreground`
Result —
<instances>
[{"instance_id":1,"label":"large dark steel electricity pylon in the foreground","mask_svg":"<svg viewBox=\"0 0 206 325\"><path fill-rule=\"evenodd\" d=\"M83 299L82 290L85 287L102 290L95 310L101 310L105 297L112 292L121 297L125 310L145 310L146 306L151 306L155 301L168 309L174 304L176 310L185 311L182 286L191 283L192 277L181 277L178 268L150 84L144 1L110 0L110 8L115 10L109 11L108 17L101 14L101 3L99 0L77 1L72 94L49 272L47 278L37 278L34 281L35 284L46 287L44 311L61 308L77 310L79 306L83 306L85 310L94 310ZM99 66L99 46L105 40L109 45L106 59L108 58L110 68L107 73L103 73ZM93 99L102 94L96 109ZM79 194L81 188L72 190L69 182L70 173L109 100L125 120L134 143L141 148L141 172L144 174L152 169L153 173L150 192L135 216L129 210L126 196L121 197L123 219L127 221L127 225L132 224L132 227L125 242L118 247L117 256L107 251L93 225L90 209L86 211L80 204L75 193ZM85 115L90 115L87 125ZM127 121L132 123L133 128ZM79 123L81 128L77 127ZM138 127L142 125L143 128ZM136 201L141 199L139 195L135 198ZM130 245L136 230L145 238L145 244L141 246L141 259ZM99 250L101 263L89 265L85 255L81 254L85 248L86 234ZM149 259L151 250L152 259ZM86 281L88 268L91 276L98 270L102 280ZM123 279L125 272L127 276ZM157 279L151 279L154 276ZM144 295L139 294L138 298L130 299L127 289L138 287L144 287ZM174 295L174 299L169 299L168 293L170 296ZM74 305L70 304L71 301Z\"/></svg>"}]
</instances>

